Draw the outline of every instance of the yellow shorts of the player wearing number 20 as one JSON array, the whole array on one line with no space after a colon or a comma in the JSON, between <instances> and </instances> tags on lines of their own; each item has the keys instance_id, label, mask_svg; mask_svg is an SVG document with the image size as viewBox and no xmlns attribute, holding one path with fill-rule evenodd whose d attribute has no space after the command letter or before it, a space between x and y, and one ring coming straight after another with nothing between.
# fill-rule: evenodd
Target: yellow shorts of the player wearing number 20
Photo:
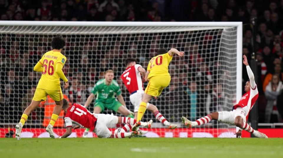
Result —
<instances>
[{"instance_id":1,"label":"yellow shorts of the player wearing number 20","mask_svg":"<svg viewBox=\"0 0 283 158\"><path fill-rule=\"evenodd\" d=\"M160 96L162 90L170 84L171 76L153 76L149 79L144 92L151 96Z\"/></svg>"}]
</instances>

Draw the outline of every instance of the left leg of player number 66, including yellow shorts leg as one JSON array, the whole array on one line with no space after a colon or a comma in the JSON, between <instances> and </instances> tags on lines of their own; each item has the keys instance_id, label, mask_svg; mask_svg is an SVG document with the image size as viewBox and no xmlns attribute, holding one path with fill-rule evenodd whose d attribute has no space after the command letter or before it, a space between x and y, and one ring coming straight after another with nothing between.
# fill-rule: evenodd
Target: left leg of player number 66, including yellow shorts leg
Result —
<instances>
[{"instance_id":1,"label":"left leg of player number 66, including yellow shorts leg","mask_svg":"<svg viewBox=\"0 0 283 158\"><path fill-rule=\"evenodd\" d=\"M22 132L22 127L24 126L24 123L27 121L27 118L29 114L34 111L35 108L38 107L41 101L45 101L47 97L47 93L43 89L38 89L36 88L34 92L34 96L32 98L32 102L30 105L24 110L24 113L21 116L21 119L19 123L16 125L16 138L18 140L21 139L21 132Z\"/></svg>"}]
</instances>

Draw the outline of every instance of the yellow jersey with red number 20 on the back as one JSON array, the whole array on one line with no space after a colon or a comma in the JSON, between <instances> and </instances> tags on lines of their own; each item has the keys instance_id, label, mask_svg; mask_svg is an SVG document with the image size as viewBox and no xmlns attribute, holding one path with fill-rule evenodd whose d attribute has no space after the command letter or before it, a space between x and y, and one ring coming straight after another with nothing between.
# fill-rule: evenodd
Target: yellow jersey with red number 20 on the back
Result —
<instances>
[{"instance_id":1,"label":"yellow jersey with red number 20 on the back","mask_svg":"<svg viewBox=\"0 0 283 158\"><path fill-rule=\"evenodd\" d=\"M148 75L148 79L153 76L170 76L168 72L168 66L170 61L172 60L172 56L167 53L157 55L153 57L147 66L147 71L150 71Z\"/></svg>"}]
</instances>

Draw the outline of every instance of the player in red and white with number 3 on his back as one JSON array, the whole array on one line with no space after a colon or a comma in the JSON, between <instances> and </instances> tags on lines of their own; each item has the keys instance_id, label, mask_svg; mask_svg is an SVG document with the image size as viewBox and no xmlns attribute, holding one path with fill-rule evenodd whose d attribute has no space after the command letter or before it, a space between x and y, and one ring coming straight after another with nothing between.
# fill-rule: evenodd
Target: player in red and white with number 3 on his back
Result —
<instances>
[{"instance_id":1,"label":"player in red and white with number 3 on his back","mask_svg":"<svg viewBox=\"0 0 283 158\"><path fill-rule=\"evenodd\" d=\"M124 62L127 68L122 73L121 79L123 80L123 83L125 84L129 93L131 94L130 101L134 105L135 119L137 119L139 105L141 104L144 95L144 88L143 88L143 81L141 78L141 74L143 77L145 77L146 71L144 68L142 68L141 65L136 64L136 59L129 58L126 59ZM162 122L169 129L175 129L177 127L177 125L168 122L162 116L162 114L159 113L157 107L154 106L153 104L147 103L146 109L152 112L155 118L158 121Z\"/></svg>"}]
</instances>

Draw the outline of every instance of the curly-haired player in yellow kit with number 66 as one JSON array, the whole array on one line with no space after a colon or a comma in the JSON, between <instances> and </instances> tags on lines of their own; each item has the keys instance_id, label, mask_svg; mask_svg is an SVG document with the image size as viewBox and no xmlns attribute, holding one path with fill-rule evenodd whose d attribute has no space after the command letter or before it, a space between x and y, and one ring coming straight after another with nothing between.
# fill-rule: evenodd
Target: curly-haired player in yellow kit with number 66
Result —
<instances>
[{"instance_id":1,"label":"curly-haired player in yellow kit with number 66","mask_svg":"<svg viewBox=\"0 0 283 158\"><path fill-rule=\"evenodd\" d=\"M16 138L18 140L21 138L22 127L27 121L27 117L32 111L34 111L35 108L37 108L41 101L46 100L47 95L49 95L56 103L50 123L46 127L46 131L49 133L50 137L54 138L53 126L59 117L63 106L63 94L60 87L60 78L65 82L64 88L66 89L69 87L68 79L62 71L67 60L66 57L61 54L65 45L66 42L60 35L53 37L51 41L53 50L46 52L33 68L34 71L41 72L42 75L37 84L32 102L24 110L19 124L16 125Z\"/></svg>"}]
</instances>

